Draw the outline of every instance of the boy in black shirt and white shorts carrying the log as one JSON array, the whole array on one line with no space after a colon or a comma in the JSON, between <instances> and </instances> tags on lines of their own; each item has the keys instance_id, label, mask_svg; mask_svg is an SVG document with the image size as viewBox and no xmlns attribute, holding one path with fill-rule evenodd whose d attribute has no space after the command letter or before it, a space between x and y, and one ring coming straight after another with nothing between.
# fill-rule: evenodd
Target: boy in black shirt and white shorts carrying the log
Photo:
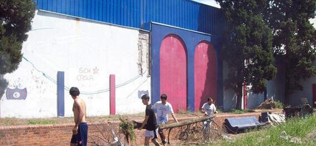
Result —
<instances>
[{"instance_id":1,"label":"boy in black shirt and white shorts carrying the log","mask_svg":"<svg viewBox=\"0 0 316 146\"><path fill-rule=\"evenodd\" d=\"M145 145L149 146L149 139L155 144L155 146L159 146L157 141L157 134L158 134L158 125L157 119L154 112L154 109L151 104L149 104L149 96L147 94L141 96L141 101L144 105L146 105L145 110L145 119L142 122L142 125L139 130L141 130L146 124L146 131L145 131Z\"/></svg>"}]
</instances>

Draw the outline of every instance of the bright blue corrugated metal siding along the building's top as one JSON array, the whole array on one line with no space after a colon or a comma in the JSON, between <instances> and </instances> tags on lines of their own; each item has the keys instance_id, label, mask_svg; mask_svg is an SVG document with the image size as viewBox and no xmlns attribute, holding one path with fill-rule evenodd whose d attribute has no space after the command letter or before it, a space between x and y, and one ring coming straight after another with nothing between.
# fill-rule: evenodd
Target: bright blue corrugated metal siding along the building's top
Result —
<instances>
[{"instance_id":1,"label":"bright blue corrugated metal siding along the building's top","mask_svg":"<svg viewBox=\"0 0 316 146\"><path fill-rule=\"evenodd\" d=\"M34 0L40 10L142 28L150 21L222 36L224 13L192 0Z\"/></svg>"}]
</instances>

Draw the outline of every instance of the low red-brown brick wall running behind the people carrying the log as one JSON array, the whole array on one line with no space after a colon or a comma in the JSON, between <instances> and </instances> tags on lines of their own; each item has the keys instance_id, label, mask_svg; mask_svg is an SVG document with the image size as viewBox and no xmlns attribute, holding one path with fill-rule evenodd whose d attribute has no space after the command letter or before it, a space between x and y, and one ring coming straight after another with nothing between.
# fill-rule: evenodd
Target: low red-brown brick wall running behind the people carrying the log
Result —
<instances>
[{"instance_id":1,"label":"low red-brown brick wall running behind the people carrying the log","mask_svg":"<svg viewBox=\"0 0 316 146\"><path fill-rule=\"evenodd\" d=\"M231 115L218 115L214 121L222 126L225 118L230 117L246 117L256 116L258 118L260 113L247 113L247 114L231 114ZM193 119L179 118L179 121ZM171 120L173 122L173 120ZM110 129L113 128L115 131L118 129L119 122L112 123L90 123L88 129L88 141L92 139L96 140L97 136L102 137L99 130L104 131L104 134L109 133ZM36 125L36 126L10 126L0 127L0 144L2 146L69 146L71 139L71 130L74 125ZM142 145L144 142L145 130L135 129L136 144ZM178 130L172 129L171 139L175 139ZM167 137L168 131L166 130L165 135ZM96 135L96 136L92 136ZM106 137L106 135L105 135ZM172 142L172 141L171 141ZM1 146L0 145L0 146ZM91 145L89 145L91 146Z\"/></svg>"}]
</instances>

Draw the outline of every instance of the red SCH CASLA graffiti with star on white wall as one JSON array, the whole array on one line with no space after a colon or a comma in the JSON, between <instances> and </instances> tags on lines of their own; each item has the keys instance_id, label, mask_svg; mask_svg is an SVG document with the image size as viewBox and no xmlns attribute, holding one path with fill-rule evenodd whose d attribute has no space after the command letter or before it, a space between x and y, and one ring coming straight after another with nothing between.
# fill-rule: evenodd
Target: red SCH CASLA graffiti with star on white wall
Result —
<instances>
[{"instance_id":1,"label":"red SCH CASLA graffiti with star on white wall","mask_svg":"<svg viewBox=\"0 0 316 146\"><path fill-rule=\"evenodd\" d=\"M78 69L77 81L93 81L93 76L99 73L97 67L94 68L84 68L81 67Z\"/></svg>"}]
</instances>

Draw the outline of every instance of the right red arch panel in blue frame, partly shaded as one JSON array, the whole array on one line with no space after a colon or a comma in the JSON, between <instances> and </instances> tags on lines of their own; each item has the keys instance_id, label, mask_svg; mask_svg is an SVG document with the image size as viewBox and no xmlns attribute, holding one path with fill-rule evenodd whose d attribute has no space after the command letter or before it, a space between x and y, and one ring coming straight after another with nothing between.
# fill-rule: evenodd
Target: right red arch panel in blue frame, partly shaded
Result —
<instances>
[{"instance_id":1,"label":"right red arch panel in blue frame, partly shaded","mask_svg":"<svg viewBox=\"0 0 316 146\"><path fill-rule=\"evenodd\" d=\"M194 109L200 110L208 97L217 100L217 70L214 47L201 41L194 53Z\"/></svg>"}]
</instances>

